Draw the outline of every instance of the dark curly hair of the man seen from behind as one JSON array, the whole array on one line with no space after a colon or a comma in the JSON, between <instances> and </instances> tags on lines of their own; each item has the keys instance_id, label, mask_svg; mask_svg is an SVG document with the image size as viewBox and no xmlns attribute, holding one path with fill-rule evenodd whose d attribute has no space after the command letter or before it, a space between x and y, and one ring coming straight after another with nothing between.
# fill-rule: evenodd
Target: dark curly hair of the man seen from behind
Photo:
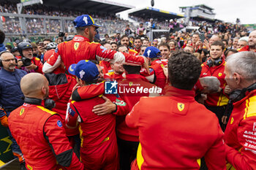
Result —
<instances>
[{"instance_id":1,"label":"dark curly hair of the man seen from behind","mask_svg":"<svg viewBox=\"0 0 256 170\"><path fill-rule=\"evenodd\" d=\"M191 53L178 52L168 61L170 84L174 88L192 90L201 73L201 63Z\"/></svg>"}]
</instances>

